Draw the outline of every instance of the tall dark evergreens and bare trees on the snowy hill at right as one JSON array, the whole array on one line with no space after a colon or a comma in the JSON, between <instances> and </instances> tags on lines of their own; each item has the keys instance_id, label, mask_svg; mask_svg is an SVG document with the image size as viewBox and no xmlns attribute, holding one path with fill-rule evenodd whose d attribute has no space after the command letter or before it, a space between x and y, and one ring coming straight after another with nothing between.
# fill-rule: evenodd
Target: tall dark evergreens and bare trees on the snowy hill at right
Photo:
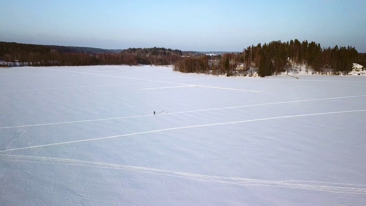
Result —
<instances>
[{"instance_id":1,"label":"tall dark evergreens and bare trees on the snowy hill at right","mask_svg":"<svg viewBox=\"0 0 366 206\"><path fill-rule=\"evenodd\" d=\"M174 64L174 70L184 73L206 73L227 76L261 77L306 72L319 74L347 75L352 71L352 63L366 65L366 54L359 54L355 47L322 48L319 43L307 40L251 45L239 53L227 53L219 59L190 57ZM205 61L208 61L207 67Z\"/></svg>"}]
</instances>

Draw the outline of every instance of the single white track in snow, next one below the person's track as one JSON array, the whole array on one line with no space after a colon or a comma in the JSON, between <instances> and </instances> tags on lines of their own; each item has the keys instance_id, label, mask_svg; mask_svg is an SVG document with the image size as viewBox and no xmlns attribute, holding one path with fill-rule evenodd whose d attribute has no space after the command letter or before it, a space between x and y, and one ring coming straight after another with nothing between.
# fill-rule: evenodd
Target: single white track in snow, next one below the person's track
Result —
<instances>
[{"instance_id":1,"label":"single white track in snow, next one below the person's track","mask_svg":"<svg viewBox=\"0 0 366 206\"><path fill-rule=\"evenodd\" d=\"M141 134L146 134L146 133L163 132L163 131L176 130L176 129L186 129L186 128L195 128L195 127L203 127L203 126L214 126L214 125L236 124L236 123L243 123L243 122L262 121L262 120L268 120L268 119L282 119L282 118L290 118L290 117L305 117L305 116L312 116L312 115L337 114L337 113L360 112L360 111L366 111L366 110L351 110L351 111L335 111L335 112L326 112L326 113L300 114L300 115L291 115L291 116L282 116L282 117L269 117L269 118L261 118L261 119L250 119L250 120L235 121L235 122L223 122L223 123L204 124L204 125L182 126L182 127L175 127L175 128L168 128L168 129L158 129L158 130L152 130L152 131L146 131L146 132L136 132L136 133L130 133L130 134L125 134L125 135L115 135L115 136L109 136L109 137L98 137L98 138L93 138L93 139L65 141L65 142L52 143L52 144L42 144L42 145L37 145L37 146L2 150L0 152L24 150L24 149L37 148L37 147L46 147L46 146L53 146L53 145L60 145L60 144L70 144L70 143L83 142L83 141L110 139L110 138L114 138L114 137L141 135Z\"/></svg>"}]
</instances>

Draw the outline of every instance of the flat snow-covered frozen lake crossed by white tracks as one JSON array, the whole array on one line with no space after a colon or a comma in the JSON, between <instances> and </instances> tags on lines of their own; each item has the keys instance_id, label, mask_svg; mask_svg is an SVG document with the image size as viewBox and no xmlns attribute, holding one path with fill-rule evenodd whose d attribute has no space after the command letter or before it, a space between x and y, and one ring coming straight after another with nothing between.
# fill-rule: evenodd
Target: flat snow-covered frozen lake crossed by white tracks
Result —
<instances>
[{"instance_id":1,"label":"flat snow-covered frozen lake crossed by white tracks","mask_svg":"<svg viewBox=\"0 0 366 206\"><path fill-rule=\"evenodd\" d=\"M298 77L0 69L0 205L366 205L366 77Z\"/></svg>"}]
</instances>

